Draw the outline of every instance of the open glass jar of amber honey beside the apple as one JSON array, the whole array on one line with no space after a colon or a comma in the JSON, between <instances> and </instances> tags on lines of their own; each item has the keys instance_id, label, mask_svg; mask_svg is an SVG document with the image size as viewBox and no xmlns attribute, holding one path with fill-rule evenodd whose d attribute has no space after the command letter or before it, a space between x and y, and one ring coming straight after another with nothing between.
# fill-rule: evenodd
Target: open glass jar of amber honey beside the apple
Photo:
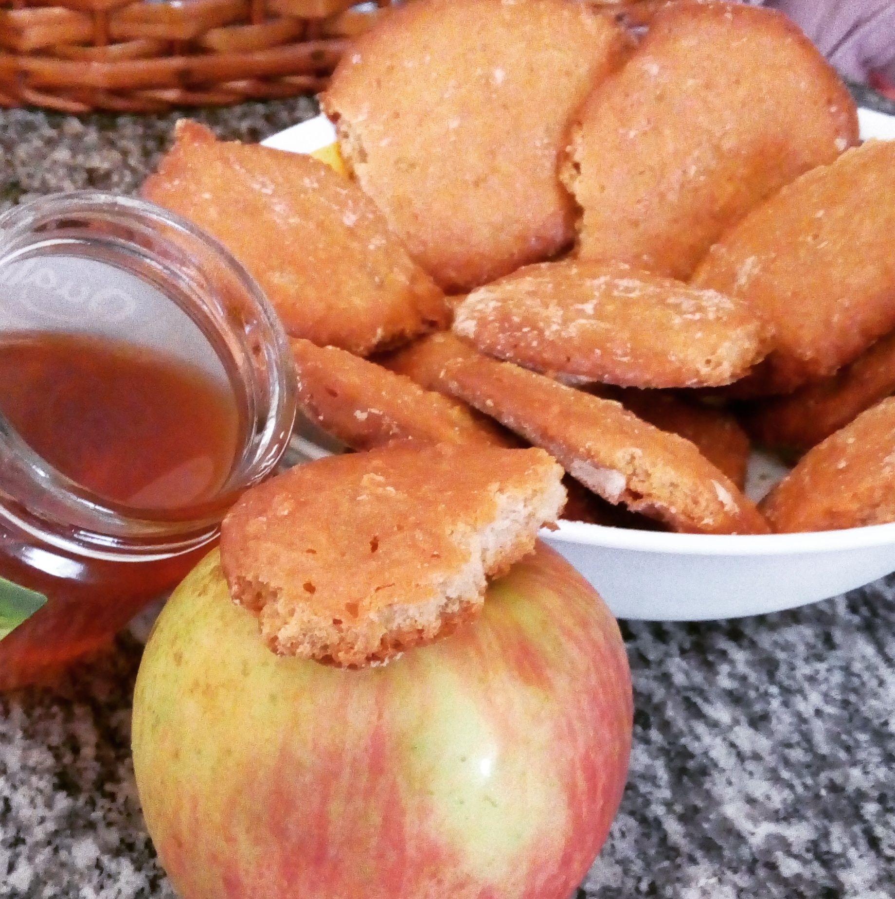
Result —
<instances>
[{"instance_id":1,"label":"open glass jar of amber honey beside the apple","mask_svg":"<svg viewBox=\"0 0 895 899\"><path fill-rule=\"evenodd\" d=\"M177 583L294 416L277 318L213 239L93 191L0 217L0 689Z\"/></svg>"}]
</instances>

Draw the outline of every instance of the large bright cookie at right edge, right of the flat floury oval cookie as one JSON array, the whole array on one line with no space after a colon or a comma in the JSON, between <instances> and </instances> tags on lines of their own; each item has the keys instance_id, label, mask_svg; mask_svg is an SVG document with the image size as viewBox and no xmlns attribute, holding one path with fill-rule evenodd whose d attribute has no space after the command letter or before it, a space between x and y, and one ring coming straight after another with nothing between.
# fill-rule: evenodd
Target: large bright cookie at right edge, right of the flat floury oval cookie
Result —
<instances>
[{"instance_id":1,"label":"large bright cookie at right edge, right of the flat floury oval cookie","mask_svg":"<svg viewBox=\"0 0 895 899\"><path fill-rule=\"evenodd\" d=\"M892 172L895 142L867 141L754 209L696 270L774 329L753 393L826 378L895 329Z\"/></svg>"}]
</instances>

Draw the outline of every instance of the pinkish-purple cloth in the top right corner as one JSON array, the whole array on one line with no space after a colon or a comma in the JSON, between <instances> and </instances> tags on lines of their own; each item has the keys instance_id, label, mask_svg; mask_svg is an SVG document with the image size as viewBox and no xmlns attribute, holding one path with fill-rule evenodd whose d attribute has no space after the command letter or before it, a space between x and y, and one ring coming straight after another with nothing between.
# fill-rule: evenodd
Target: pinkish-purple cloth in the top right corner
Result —
<instances>
[{"instance_id":1,"label":"pinkish-purple cloth in the top right corner","mask_svg":"<svg viewBox=\"0 0 895 899\"><path fill-rule=\"evenodd\" d=\"M895 84L895 0L768 0L765 5L796 22L846 78L866 83L875 74Z\"/></svg>"}]
</instances>

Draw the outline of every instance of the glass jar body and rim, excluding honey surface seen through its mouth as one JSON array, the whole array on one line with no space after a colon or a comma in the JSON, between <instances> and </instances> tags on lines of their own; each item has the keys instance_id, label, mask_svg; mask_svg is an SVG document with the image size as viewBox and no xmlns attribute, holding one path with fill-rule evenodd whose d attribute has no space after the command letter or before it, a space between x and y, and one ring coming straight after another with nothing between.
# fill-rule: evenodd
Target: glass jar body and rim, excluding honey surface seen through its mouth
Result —
<instances>
[{"instance_id":1,"label":"glass jar body and rim, excluding honey surface seen through its mouth","mask_svg":"<svg viewBox=\"0 0 895 899\"><path fill-rule=\"evenodd\" d=\"M143 200L76 191L0 216L0 338L22 333L108 338L198 366L232 390L238 435L213 495L146 511L76 484L0 416L4 690L102 645L177 583L235 498L277 466L296 414L286 336L257 284L217 241Z\"/></svg>"}]
</instances>

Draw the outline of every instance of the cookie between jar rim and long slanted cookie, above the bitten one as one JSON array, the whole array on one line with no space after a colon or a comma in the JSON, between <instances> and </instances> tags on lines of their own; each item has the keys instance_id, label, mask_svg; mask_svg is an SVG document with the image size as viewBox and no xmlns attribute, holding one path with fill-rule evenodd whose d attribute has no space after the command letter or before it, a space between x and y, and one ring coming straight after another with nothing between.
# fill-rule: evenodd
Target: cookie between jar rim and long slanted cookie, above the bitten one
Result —
<instances>
[{"instance_id":1,"label":"cookie between jar rim and long slanted cookie, above the bitten one","mask_svg":"<svg viewBox=\"0 0 895 899\"><path fill-rule=\"evenodd\" d=\"M336 347L289 342L298 376L299 408L351 449L394 441L506 446L490 419L453 397Z\"/></svg>"}]
</instances>

